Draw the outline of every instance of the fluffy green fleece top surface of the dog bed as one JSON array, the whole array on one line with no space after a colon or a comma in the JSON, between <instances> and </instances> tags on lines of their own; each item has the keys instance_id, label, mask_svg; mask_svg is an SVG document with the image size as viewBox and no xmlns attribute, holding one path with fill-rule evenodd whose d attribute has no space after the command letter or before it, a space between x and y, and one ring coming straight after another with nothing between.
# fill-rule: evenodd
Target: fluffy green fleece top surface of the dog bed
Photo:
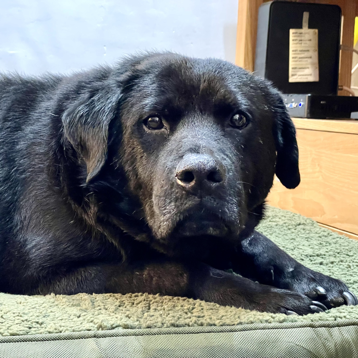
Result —
<instances>
[{"instance_id":1,"label":"fluffy green fleece top surface of the dog bed","mask_svg":"<svg viewBox=\"0 0 358 358\"><path fill-rule=\"evenodd\" d=\"M258 230L313 270L358 294L358 241L303 216L270 207ZM20 296L0 293L0 335L358 319L358 306L306 316L259 313L200 300L148 294Z\"/></svg>"}]
</instances>

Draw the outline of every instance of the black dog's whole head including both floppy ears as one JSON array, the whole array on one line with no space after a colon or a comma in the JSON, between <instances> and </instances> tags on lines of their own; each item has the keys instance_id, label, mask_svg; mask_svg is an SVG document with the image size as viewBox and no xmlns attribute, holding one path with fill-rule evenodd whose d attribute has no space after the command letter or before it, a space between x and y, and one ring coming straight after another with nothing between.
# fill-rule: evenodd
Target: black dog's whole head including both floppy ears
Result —
<instances>
[{"instance_id":1,"label":"black dog's whole head including both floppy ears","mask_svg":"<svg viewBox=\"0 0 358 358\"><path fill-rule=\"evenodd\" d=\"M237 240L261 219L275 173L287 188L299 184L295 128L266 81L173 53L105 72L64 113L64 133L98 212L125 231L149 228L171 255Z\"/></svg>"}]
</instances>

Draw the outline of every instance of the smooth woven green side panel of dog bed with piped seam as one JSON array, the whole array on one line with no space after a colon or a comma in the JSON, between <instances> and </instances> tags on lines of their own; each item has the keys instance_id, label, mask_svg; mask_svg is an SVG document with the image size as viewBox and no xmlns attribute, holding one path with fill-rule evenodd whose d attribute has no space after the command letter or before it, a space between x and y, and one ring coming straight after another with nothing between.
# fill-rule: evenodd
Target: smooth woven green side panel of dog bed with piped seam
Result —
<instances>
[{"instance_id":1,"label":"smooth woven green side panel of dog bed with piped seam","mask_svg":"<svg viewBox=\"0 0 358 358\"><path fill-rule=\"evenodd\" d=\"M358 320L0 337L0 357L358 357Z\"/></svg>"}]
</instances>

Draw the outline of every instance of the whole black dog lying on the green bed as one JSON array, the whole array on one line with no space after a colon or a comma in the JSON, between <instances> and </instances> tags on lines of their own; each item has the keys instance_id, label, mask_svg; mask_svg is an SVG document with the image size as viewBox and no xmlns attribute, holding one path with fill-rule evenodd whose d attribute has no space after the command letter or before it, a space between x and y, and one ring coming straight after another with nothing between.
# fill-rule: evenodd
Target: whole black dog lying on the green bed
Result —
<instances>
[{"instance_id":1,"label":"whole black dog lying on the green bed","mask_svg":"<svg viewBox=\"0 0 358 358\"><path fill-rule=\"evenodd\" d=\"M254 231L274 174L300 182L295 128L265 81L151 53L70 77L3 76L0 94L1 291L286 314L358 303Z\"/></svg>"}]
</instances>

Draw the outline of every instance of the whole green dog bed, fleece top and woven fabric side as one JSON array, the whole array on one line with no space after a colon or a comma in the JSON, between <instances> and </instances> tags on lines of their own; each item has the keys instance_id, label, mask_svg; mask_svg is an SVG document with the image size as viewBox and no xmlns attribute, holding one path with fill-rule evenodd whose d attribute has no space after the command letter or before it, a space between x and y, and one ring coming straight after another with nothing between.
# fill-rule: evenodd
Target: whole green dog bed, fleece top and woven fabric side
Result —
<instances>
[{"instance_id":1,"label":"whole green dog bed, fleece top and woven fabric side","mask_svg":"<svg viewBox=\"0 0 358 358\"><path fill-rule=\"evenodd\" d=\"M358 241L272 207L258 231L358 294ZM148 294L0 293L0 357L358 357L358 306L286 316Z\"/></svg>"}]
</instances>

